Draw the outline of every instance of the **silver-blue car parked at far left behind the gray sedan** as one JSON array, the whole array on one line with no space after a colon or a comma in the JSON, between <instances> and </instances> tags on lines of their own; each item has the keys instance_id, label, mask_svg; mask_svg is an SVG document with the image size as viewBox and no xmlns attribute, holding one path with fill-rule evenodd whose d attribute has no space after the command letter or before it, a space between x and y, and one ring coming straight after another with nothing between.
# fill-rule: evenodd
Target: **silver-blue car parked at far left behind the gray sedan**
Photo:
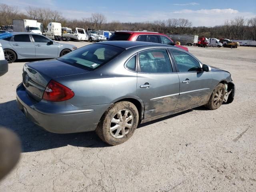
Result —
<instances>
[{"instance_id":1,"label":"silver-blue car parked at far left behind the gray sedan","mask_svg":"<svg viewBox=\"0 0 256 192\"><path fill-rule=\"evenodd\" d=\"M9 63L17 59L57 58L76 50L74 45L57 43L46 36L28 32L1 34L0 43Z\"/></svg>"}]
</instances>

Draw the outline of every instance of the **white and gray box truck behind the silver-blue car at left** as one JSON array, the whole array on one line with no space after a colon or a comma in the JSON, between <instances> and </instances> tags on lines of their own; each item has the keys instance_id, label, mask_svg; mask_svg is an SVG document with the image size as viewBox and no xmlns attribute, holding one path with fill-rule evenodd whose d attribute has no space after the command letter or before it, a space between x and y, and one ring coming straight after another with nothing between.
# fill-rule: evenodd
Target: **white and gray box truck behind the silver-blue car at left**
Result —
<instances>
[{"instance_id":1,"label":"white and gray box truck behind the silver-blue car at left","mask_svg":"<svg viewBox=\"0 0 256 192\"><path fill-rule=\"evenodd\" d=\"M12 23L14 32L32 32L36 34L42 34L36 20L14 19L12 20Z\"/></svg>"}]
</instances>

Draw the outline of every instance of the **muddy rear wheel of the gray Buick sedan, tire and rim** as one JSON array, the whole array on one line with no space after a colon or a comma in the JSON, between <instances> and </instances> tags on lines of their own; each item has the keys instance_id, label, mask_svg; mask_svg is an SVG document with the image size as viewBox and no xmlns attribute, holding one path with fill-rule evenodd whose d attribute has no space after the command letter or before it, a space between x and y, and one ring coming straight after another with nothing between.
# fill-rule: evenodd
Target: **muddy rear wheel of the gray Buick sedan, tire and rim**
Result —
<instances>
[{"instance_id":1,"label":"muddy rear wheel of the gray Buick sedan, tire and rim","mask_svg":"<svg viewBox=\"0 0 256 192\"><path fill-rule=\"evenodd\" d=\"M122 101L113 104L102 116L96 133L109 145L126 142L135 132L139 122L139 113L134 104Z\"/></svg>"}]
</instances>

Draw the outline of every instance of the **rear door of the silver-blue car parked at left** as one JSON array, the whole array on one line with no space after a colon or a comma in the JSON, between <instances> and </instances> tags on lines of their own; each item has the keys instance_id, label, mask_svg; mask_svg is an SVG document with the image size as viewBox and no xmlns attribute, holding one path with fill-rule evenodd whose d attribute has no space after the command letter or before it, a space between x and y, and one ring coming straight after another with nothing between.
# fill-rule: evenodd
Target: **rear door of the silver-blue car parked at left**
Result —
<instances>
[{"instance_id":1,"label":"rear door of the silver-blue car parked at left","mask_svg":"<svg viewBox=\"0 0 256 192\"><path fill-rule=\"evenodd\" d=\"M29 34L16 34L9 44L22 57L34 58L36 56L36 48Z\"/></svg>"}]
</instances>

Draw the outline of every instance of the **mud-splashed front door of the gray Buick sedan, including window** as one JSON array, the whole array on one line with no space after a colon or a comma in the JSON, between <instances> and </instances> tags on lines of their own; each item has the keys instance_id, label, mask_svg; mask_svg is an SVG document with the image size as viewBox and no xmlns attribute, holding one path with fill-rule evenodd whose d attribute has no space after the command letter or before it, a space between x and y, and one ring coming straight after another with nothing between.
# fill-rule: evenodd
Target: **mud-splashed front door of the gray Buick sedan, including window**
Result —
<instances>
[{"instance_id":1,"label":"mud-splashed front door of the gray Buick sedan, including window","mask_svg":"<svg viewBox=\"0 0 256 192\"><path fill-rule=\"evenodd\" d=\"M176 109L207 102L212 92L210 72L201 70L200 63L190 54L172 50L180 78L180 96Z\"/></svg>"}]
</instances>

